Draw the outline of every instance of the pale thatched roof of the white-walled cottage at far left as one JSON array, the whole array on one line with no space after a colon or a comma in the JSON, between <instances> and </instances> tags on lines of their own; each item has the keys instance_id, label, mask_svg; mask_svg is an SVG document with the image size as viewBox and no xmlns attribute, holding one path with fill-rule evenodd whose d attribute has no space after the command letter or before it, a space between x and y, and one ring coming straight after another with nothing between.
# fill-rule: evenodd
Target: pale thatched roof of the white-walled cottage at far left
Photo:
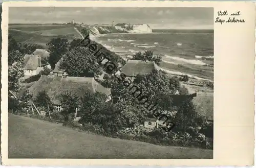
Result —
<instances>
[{"instance_id":1,"label":"pale thatched roof of the white-walled cottage at far left","mask_svg":"<svg viewBox=\"0 0 256 168\"><path fill-rule=\"evenodd\" d=\"M48 64L49 63L45 59L43 58L40 59L40 57L38 57L37 55L26 54L24 56L24 68L26 70L35 70L38 66L45 66Z\"/></svg>"}]
</instances>

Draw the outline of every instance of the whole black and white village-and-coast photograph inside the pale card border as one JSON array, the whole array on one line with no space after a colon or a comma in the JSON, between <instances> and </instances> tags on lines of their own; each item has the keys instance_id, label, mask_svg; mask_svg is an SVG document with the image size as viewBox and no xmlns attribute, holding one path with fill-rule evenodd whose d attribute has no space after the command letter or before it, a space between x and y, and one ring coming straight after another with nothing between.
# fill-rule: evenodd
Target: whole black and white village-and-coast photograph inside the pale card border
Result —
<instances>
[{"instance_id":1,"label":"whole black and white village-and-coast photograph inside the pale card border","mask_svg":"<svg viewBox=\"0 0 256 168\"><path fill-rule=\"evenodd\" d=\"M8 14L8 158L214 158L214 8Z\"/></svg>"}]
</instances>

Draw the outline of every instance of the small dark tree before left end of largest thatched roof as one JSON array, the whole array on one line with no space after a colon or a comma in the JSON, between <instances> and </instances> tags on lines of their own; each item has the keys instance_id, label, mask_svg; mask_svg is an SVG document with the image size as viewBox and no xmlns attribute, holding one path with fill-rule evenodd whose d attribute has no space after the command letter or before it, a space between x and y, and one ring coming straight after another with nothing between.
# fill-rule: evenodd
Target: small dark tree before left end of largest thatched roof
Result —
<instances>
[{"instance_id":1,"label":"small dark tree before left end of largest thatched roof","mask_svg":"<svg viewBox=\"0 0 256 168\"><path fill-rule=\"evenodd\" d=\"M44 109L48 109L52 111L53 110L53 103L51 101L51 98L47 94L45 90L39 91L36 95L36 98L34 100L36 106L40 106Z\"/></svg>"}]
</instances>

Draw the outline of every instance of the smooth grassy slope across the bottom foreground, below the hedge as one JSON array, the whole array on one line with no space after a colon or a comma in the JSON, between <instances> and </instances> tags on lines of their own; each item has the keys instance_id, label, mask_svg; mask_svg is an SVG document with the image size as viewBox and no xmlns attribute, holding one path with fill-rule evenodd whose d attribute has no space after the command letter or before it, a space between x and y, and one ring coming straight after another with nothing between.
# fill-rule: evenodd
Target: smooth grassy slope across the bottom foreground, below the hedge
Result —
<instances>
[{"instance_id":1,"label":"smooth grassy slope across the bottom foreground, below the hedge","mask_svg":"<svg viewBox=\"0 0 256 168\"><path fill-rule=\"evenodd\" d=\"M212 158L213 151L161 147L78 132L60 124L9 113L9 158Z\"/></svg>"}]
</instances>

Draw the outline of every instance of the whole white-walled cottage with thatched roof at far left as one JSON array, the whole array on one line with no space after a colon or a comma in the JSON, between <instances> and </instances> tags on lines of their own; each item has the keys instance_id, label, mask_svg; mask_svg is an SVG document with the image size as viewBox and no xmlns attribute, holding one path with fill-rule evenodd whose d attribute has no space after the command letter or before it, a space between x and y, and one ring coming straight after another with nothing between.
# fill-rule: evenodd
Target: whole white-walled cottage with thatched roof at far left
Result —
<instances>
[{"instance_id":1,"label":"whole white-walled cottage with thatched roof at far left","mask_svg":"<svg viewBox=\"0 0 256 168\"><path fill-rule=\"evenodd\" d=\"M49 63L44 59L39 57L38 55L28 55L24 56L24 75L25 76L33 76L40 73L44 67L47 66L51 68Z\"/></svg>"}]
</instances>

